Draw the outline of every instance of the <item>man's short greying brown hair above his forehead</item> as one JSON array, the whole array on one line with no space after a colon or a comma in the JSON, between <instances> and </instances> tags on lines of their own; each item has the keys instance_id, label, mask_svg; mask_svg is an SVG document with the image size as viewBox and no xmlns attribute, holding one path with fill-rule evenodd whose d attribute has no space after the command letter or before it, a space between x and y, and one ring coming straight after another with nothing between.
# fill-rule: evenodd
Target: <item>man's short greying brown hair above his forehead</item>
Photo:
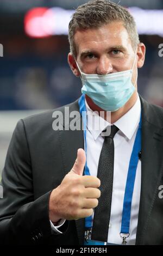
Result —
<instances>
[{"instance_id":1,"label":"man's short greying brown hair above his forehead","mask_svg":"<svg viewBox=\"0 0 163 256\"><path fill-rule=\"evenodd\" d=\"M80 5L72 15L68 27L68 40L73 56L77 56L74 44L74 34L77 29L99 28L112 21L123 23L129 34L131 45L135 50L140 41L134 17L121 5L106 0L95 0Z\"/></svg>"}]
</instances>

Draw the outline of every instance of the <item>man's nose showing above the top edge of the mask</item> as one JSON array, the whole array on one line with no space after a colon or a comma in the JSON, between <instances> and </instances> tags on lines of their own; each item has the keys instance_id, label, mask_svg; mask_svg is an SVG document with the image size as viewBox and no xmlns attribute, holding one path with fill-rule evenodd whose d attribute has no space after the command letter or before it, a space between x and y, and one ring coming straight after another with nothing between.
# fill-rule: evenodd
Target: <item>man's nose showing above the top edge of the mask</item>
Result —
<instances>
[{"instance_id":1,"label":"man's nose showing above the top edge of the mask","mask_svg":"<svg viewBox=\"0 0 163 256\"><path fill-rule=\"evenodd\" d=\"M97 66L98 75L107 75L112 72L112 64L108 57L101 57Z\"/></svg>"}]
</instances>

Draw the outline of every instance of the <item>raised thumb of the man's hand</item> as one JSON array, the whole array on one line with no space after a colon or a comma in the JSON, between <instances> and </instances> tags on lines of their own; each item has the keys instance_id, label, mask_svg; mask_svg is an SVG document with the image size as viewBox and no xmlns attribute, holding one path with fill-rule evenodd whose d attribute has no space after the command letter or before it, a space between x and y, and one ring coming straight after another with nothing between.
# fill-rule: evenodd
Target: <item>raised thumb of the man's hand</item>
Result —
<instances>
[{"instance_id":1,"label":"raised thumb of the man's hand","mask_svg":"<svg viewBox=\"0 0 163 256\"><path fill-rule=\"evenodd\" d=\"M84 149L78 149L77 159L76 159L71 171L78 175L83 175L85 162L86 162L86 156L85 156Z\"/></svg>"}]
</instances>

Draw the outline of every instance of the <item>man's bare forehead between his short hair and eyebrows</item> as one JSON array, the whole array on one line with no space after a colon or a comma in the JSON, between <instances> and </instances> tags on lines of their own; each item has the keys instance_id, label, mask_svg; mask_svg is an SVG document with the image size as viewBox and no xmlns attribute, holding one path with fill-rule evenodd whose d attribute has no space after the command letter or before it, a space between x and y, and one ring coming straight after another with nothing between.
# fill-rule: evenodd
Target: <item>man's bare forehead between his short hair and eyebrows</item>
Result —
<instances>
[{"instance_id":1,"label":"man's bare forehead between his short hair and eyebrows","mask_svg":"<svg viewBox=\"0 0 163 256\"><path fill-rule=\"evenodd\" d=\"M131 48L131 40L122 22L111 22L99 28L80 29L74 34L77 53L84 50L105 50L105 48L122 45Z\"/></svg>"}]
</instances>

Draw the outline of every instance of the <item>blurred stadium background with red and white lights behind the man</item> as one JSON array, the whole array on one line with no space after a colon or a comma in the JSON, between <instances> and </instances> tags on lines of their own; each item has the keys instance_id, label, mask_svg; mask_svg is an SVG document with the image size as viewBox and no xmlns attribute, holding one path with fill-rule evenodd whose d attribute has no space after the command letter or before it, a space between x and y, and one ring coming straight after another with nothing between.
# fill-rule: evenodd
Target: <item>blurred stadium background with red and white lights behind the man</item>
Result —
<instances>
[{"instance_id":1,"label":"blurred stadium background with red and white lights behind the man","mask_svg":"<svg viewBox=\"0 0 163 256\"><path fill-rule=\"evenodd\" d=\"M67 64L68 21L84 0L1 0L0 174L14 127L20 118L55 108L80 96L80 80ZM118 3L119 1L113 1ZM163 1L121 0L134 15L147 46L139 70L139 93L163 107ZM162 45L163 46L163 45Z\"/></svg>"}]
</instances>

